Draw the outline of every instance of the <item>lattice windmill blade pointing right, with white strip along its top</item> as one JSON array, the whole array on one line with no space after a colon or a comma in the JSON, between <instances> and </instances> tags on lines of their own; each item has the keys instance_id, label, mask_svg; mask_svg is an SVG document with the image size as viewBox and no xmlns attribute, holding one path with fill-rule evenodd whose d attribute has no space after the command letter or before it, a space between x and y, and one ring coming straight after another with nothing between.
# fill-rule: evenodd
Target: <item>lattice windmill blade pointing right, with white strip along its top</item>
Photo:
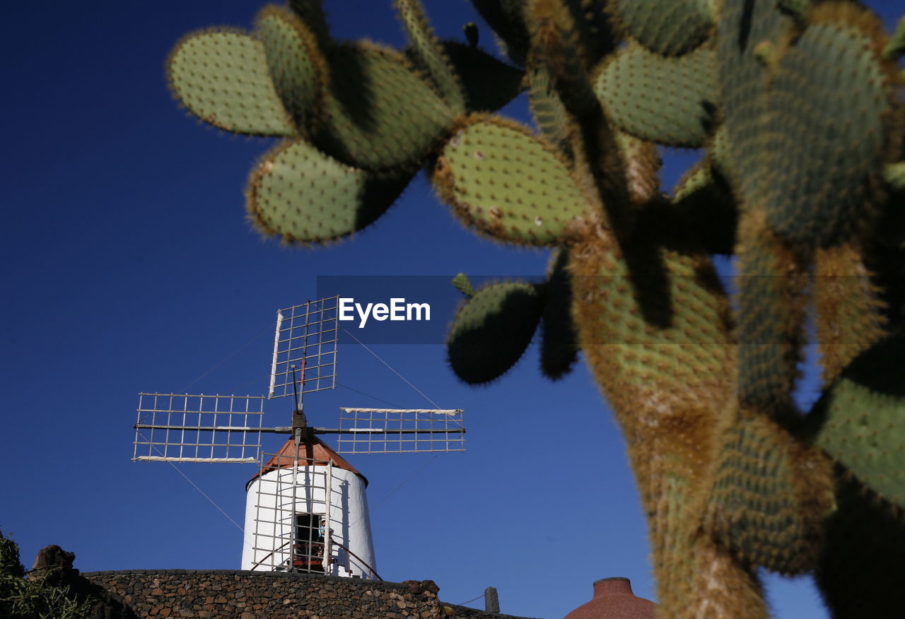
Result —
<instances>
[{"instance_id":1,"label":"lattice windmill blade pointing right, with white strip along its top","mask_svg":"<svg viewBox=\"0 0 905 619\"><path fill-rule=\"evenodd\" d=\"M338 453L464 452L461 409L341 408Z\"/></svg>"}]
</instances>

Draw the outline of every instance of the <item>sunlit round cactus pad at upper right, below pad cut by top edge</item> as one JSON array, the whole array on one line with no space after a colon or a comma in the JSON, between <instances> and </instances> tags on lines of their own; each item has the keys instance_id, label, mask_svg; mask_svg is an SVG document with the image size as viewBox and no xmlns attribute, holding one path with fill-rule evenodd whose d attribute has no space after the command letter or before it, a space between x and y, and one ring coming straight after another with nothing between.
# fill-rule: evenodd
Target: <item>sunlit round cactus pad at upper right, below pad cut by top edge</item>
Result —
<instances>
[{"instance_id":1,"label":"sunlit round cactus pad at upper right, below pad cut by top edge","mask_svg":"<svg viewBox=\"0 0 905 619\"><path fill-rule=\"evenodd\" d=\"M698 148L715 122L716 58L707 49L663 58L628 47L597 74L595 92L625 132L666 146Z\"/></svg>"}]
</instances>

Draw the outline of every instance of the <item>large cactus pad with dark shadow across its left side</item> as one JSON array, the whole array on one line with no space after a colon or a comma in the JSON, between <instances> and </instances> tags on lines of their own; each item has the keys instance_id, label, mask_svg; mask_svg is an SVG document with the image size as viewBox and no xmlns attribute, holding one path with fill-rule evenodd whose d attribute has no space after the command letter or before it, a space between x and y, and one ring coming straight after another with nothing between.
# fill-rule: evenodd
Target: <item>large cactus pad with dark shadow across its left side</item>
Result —
<instances>
[{"instance_id":1,"label":"large cactus pad with dark shadow across its left side","mask_svg":"<svg viewBox=\"0 0 905 619\"><path fill-rule=\"evenodd\" d=\"M329 91L313 143L374 171L414 170L452 127L452 110L405 57L372 43L328 55Z\"/></svg>"}]
</instances>

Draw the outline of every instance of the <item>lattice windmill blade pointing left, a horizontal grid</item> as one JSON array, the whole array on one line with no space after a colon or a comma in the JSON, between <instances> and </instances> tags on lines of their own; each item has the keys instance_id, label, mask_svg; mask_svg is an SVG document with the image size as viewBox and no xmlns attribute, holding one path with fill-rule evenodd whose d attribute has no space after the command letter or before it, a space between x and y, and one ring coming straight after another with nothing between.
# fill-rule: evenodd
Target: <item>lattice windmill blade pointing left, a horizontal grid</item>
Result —
<instances>
[{"instance_id":1,"label":"lattice windmill blade pointing left, a horizontal grid","mask_svg":"<svg viewBox=\"0 0 905 619\"><path fill-rule=\"evenodd\" d=\"M265 399L140 393L132 460L258 462Z\"/></svg>"}]
</instances>

